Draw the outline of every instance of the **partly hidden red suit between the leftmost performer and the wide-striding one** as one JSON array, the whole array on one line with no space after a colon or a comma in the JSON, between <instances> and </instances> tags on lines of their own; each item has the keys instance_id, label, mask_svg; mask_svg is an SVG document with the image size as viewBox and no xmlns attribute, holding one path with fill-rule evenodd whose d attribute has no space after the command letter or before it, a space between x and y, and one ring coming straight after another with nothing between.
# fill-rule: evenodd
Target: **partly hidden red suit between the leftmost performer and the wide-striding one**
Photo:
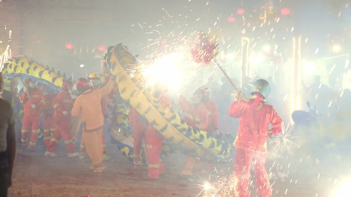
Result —
<instances>
[{"instance_id":1,"label":"partly hidden red suit between the leftmost performer and the wide-striding one","mask_svg":"<svg viewBox=\"0 0 351 197\"><path fill-rule=\"evenodd\" d=\"M55 122L53 120L53 108L52 108L52 100L54 96L55 96L54 94L50 94L50 93L44 94L44 97L46 99L46 105L43 110L44 111L43 141L46 147L49 146L52 134L55 131L55 127L56 127Z\"/></svg>"}]
</instances>

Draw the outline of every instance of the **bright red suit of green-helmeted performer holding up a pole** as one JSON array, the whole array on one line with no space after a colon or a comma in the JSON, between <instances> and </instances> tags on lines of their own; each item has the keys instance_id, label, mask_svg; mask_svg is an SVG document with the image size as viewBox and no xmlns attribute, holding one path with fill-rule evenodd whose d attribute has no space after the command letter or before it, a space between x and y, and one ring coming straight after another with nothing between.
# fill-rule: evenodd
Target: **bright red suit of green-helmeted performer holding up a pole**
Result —
<instances>
[{"instance_id":1,"label":"bright red suit of green-helmeted performer holding up a pole","mask_svg":"<svg viewBox=\"0 0 351 197\"><path fill-rule=\"evenodd\" d=\"M238 184L235 191L240 197L249 196L250 167L255 170L256 187L259 196L271 196L271 188L266 172L268 125L272 133L281 132L282 119L274 108L260 100L257 108L252 106L255 97L234 101L229 107L229 116L239 118L238 135L234 142L237 147L235 172Z\"/></svg>"}]
</instances>

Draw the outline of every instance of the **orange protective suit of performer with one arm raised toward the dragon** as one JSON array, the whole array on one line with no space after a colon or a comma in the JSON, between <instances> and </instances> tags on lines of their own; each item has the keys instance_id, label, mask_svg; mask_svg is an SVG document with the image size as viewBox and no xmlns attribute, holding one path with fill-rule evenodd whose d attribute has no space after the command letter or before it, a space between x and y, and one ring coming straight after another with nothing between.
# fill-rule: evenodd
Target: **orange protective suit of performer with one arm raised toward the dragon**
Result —
<instances>
[{"instance_id":1,"label":"orange protective suit of performer with one arm raised toward the dragon","mask_svg":"<svg viewBox=\"0 0 351 197\"><path fill-rule=\"evenodd\" d=\"M101 170L104 168L102 164L102 135L104 116L100 103L101 99L111 92L112 86L113 81L109 80L107 84L100 89L87 90L83 92L76 98L71 112L73 117L78 117L80 115L82 116L82 138L95 170Z\"/></svg>"}]
</instances>

